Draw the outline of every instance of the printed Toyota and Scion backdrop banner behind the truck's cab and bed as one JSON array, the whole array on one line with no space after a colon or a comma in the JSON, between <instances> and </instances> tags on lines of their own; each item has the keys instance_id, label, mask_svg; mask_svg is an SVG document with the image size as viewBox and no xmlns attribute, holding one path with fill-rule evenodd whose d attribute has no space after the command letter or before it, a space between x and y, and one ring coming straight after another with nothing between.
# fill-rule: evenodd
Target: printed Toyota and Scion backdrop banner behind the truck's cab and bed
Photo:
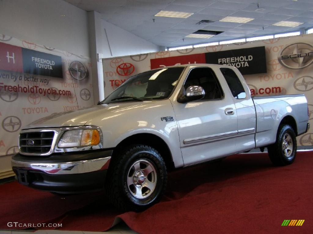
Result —
<instances>
[{"instance_id":1,"label":"printed Toyota and Scion backdrop banner behind the truck's cab and bed","mask_svg":"<svg viewBox=\"0 0 313 234\"><path fill-rule=\"evenodd\" d=\"M260 63L257 63L260 67L255 67L253 64L253 69L255 69L255 73L261 73L244 75L251 94L253 96L305 94L309 104L309 122L312 125L312 41L313 34L306 34L295 37L250 41L229 45L206 46L176 51L161 51L103 59L105 96L108 96L129 77L137 73L158 67L162 68L164 66L203 63L201 54L206 54L207 60L204 62L213 62L213 60L215 60L217 61L215 63L218 63L218 58L226 58L226 63L228 63L227 58L229 57L231 61L231 58L234 57L229 51L239 50L240 56L246 56L248 59L247 62L249 66L249 62L254 59L257 61L260 58ZM260 49L254 47L260 47ZM258 54L257 51L259 51L260 54ZM225 52L226 57L219 56L220 54L218 55L214 52ZM249 55L253 56L253 60L249 61ZM238 55L236 54L235 56ZM234 59L235 58L233 58L233 60ZM221 62L223 63L223 60ZM298 144L302 146L313 145L313 128L311 128L308 133L297 137L297 141Z\"/></svg>"}]
</instances>

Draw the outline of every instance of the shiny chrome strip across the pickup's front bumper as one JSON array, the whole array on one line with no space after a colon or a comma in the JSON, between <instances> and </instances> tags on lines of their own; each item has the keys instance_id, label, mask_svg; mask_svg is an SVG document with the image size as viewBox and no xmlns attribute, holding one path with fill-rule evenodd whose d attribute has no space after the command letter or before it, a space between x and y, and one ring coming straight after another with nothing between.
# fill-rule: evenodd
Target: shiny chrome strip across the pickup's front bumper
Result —
<instances>
[{"instance_id":1,"label":"shiny chrome strip across the pickup's front bumper","mask_svg":"<svg viewBox=\"0 0 313 234\"><path fill-rule=\"evenodd\" d=\"M111 157L97 158L75 162L24 162L11 159L12 167L23 170L41 171L51 175L81 174L107 170Z\"/></svg>"}]
</instances>

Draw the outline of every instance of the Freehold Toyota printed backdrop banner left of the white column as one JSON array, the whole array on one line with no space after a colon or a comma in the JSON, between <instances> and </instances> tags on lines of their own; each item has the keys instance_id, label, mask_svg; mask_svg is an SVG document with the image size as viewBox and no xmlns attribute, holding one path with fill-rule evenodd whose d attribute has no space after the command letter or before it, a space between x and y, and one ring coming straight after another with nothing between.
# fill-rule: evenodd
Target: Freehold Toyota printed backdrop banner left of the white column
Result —
<instances>
[{"instance_id":1,"label":"Freehold Toyota printed backdrop banner left of the white column","mask_svg":"<svg viewBox=\"0 0 313 234\"><path fill-rule=\"evenodd\" d=\"M5 156L18 152L24 126L91 106L93 94L90 58L1 34L0 41L0 156ZM9 158L0 157L7 165L3 159Z\"/></svg>"}]
</instances>

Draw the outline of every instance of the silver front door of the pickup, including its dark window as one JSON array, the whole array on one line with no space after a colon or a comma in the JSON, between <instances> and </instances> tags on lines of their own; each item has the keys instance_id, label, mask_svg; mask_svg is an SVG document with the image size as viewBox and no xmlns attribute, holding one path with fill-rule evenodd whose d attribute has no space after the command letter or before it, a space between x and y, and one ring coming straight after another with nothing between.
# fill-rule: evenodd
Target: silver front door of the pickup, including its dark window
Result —
<instances>
[{"instance_id":1,"label":"silver front door of the pickup, including its dark window","mask_svg":"<svg viewBox=\"0 0 313 234\"><path fill-rule=\"evenodd\" d=\"M235 153L238 131L235 104L230 94L223 92L214 71L192 68L184 88L192 85L203 87L203 99L173 103L185 166Z\"/></svg>"}]
</instances>

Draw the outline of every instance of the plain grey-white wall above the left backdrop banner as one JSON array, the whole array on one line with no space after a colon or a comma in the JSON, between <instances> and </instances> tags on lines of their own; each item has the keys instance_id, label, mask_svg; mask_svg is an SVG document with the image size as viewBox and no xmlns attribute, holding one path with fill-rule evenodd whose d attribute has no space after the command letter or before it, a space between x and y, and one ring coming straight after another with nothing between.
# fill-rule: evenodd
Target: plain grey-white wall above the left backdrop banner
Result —
<instances>
[{"instance_id":1,"label":"plain grey-white wall above the left backdrop banner","mask_svg":"<svg viewBox=\"0 0 313 234\"><path fill-rule=\"evenodd\" d=\"M87 12L63 0L0 1L0 33L89 56Z\"/></svg>"}]
</instances>

